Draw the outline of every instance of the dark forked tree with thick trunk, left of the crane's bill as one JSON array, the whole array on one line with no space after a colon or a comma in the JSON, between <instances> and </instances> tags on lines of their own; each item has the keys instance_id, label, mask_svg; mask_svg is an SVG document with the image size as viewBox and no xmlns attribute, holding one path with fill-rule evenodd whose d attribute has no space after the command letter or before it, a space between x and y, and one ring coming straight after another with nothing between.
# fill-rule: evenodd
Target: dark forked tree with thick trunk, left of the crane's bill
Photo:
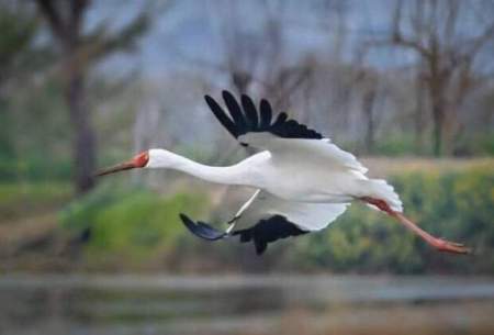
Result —
<instances>
[{"instance_id":1,"label":"dark forked tree with thick trunk, left of the crane's bill","mask_svg":"<svg viewBox=\"0 0 494 335\"><path fill-rule=\"evenodd\" d=\"M79 193L94 186L96 135L87 104L86 78L92 65L105 56L131 49L147 30L149 16L142 11L130 23L110 33L102 21L92 30L85 29L85 14L90 0L35 0L61 49L65 100L74 129L75 183Z\"/></svg>"}]
</instances>

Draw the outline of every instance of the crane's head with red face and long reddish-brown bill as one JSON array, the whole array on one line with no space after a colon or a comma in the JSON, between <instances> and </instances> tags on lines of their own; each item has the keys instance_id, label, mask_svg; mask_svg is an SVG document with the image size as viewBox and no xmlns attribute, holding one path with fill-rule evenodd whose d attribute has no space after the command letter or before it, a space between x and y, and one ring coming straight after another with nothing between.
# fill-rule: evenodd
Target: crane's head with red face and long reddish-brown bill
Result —
<instances>
[{"instance_id":1,"label":"crane's head with red face and long reddish-brown bill","mask_svg":"<svg viewBox=\"0 0 494 335\"><path fill-rule=\"evenodd\" d=\"M100 170L97 176L105 176L135 168L168 168L177 163L177 155L165 149L148 149L132 159Z\"/></svg>"}]
</instances>

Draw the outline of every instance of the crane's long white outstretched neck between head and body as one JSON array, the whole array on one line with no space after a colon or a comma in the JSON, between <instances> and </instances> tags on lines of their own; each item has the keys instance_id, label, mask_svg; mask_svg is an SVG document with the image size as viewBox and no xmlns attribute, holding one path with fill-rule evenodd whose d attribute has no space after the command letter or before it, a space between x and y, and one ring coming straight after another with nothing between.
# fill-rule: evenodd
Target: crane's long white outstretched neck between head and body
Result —
<instances>
[{"instance_id":1,"label":"crane's long white outstretched neck between head and body","mask_svg":"<svg viewBox=\"0 0 494 335\"><path fill-rule=\"evenodd\" d=\"M179 170L216 183L250 186L251 179L248 170L240 164L227 167L207 166L165 149L150 149L147 167Z\"/></svg>"}]
</instances>

